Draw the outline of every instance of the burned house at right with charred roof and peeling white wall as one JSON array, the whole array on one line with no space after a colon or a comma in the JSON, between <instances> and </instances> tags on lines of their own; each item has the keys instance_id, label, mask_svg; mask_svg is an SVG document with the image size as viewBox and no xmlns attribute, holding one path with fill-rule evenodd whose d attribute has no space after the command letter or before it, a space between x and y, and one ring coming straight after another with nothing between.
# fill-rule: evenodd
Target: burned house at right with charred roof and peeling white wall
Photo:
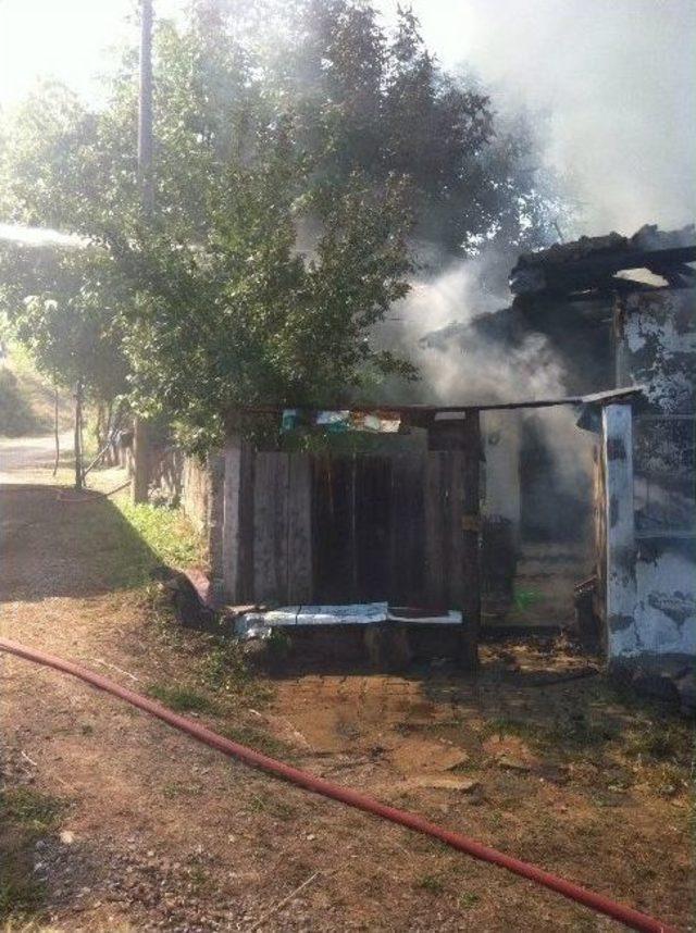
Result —
<instances>
[{"instance_id":1,"label":"burned house at right with charred roof and peeling white wall","mask_svg":"<svg viewBox=\"0 0 696 933\"><path fill-rule=\"evenodd\" d=\"M481 322L544 334L571 390L642 388L580 422L596 437L584 593L612 667L679 672L696 655L695 260L693 226L583 237L520 257L512 307Z\"/></svg>"}]
</instances>

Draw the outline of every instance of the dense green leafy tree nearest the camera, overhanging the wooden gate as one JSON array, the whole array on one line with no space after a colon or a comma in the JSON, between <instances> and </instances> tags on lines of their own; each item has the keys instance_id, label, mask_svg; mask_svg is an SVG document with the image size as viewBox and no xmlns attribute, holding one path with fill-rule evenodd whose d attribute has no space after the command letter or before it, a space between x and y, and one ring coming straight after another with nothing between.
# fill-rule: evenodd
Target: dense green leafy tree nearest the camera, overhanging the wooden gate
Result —
<instances>
[{"instance_id":1,"label":"dense green leafy tree nearest the camera, overhanging the wooden gate","mask_svg":"<svg viewBox=\"0 0 696 933\"><path fill-rule=\"evenodd\" d=\"M136 284L125 341L134 389L197 439L234 406L338 401L369 370L412 374L369 339L408 290L398 183L376 197L356 177L338 202L313 199L323 233L308 257L296 249L301 170L283 151L227 176L204 244L182 249L159 229L119 257Z\"/></svg>"}]
</instances>

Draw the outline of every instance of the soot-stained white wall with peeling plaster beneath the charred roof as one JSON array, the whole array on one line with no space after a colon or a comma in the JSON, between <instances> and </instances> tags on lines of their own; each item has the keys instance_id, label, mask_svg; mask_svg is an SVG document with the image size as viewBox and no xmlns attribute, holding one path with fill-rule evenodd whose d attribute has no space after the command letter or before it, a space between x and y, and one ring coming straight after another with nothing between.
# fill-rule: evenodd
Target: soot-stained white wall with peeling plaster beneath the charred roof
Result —
<instances>
[{"instance_id":1,"label":"soot-stained white wall with peeling plaster beneath the charred roof","mask_svg":"<svg viewBox=\"0 0 696 933\"><path fill-rule=\"evenodd\" d=\"M619 613L623 621L608 619L617 662L696 657L695 309L696 290L683 288L635 293L617 311L617 384L645 386L649 402L634 412L631 432L633 547L624 555L624 596L633 608ZM610 484L607 496L625 505Z\"/></svg>"}]
</instances>

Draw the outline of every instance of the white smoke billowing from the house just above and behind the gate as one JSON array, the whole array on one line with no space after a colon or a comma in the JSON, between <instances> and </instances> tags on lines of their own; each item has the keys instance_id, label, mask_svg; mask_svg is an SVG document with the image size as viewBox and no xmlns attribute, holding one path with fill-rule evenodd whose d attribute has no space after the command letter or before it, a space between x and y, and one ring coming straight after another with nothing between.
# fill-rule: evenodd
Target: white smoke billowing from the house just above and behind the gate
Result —
<instances>
[{"instance_id":1,"label":"white smoke billowing from the house just above and behind the gate","mask_svg":"<svg viewBox=\"0 0 696 933\"><path fill-rule=\"evenodd\" d=\"M544 335L529 333L512 346L471 326L481 314L510 302L509 294L495 295L482 287L485 264L483 258L453 262L439 274L414 282L395 307L395 320L383 325L381 343L401 345L418 364L422 400L451 406L563 398L568 395L564 366ZM574 407L484 413L486 443L488 435L500 435L499 446L496 440L496 450L489 451L486 509L490 513L513 518L517 511L519 519L519 487L512 481L525 419L534 419L545 437L556 488L588 497L593 438L576 426ZM510 462L501 463L501 457Z\"/></svg>"}]
</instances>

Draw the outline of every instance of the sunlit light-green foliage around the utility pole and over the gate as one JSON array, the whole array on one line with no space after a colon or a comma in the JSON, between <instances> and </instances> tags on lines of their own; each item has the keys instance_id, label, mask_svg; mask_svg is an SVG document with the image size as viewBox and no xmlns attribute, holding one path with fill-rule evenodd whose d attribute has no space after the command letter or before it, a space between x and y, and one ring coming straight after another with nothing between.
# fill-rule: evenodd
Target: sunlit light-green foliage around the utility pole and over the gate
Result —
<instances>
[{"instance_id":1,"label":"sunlit light-green foliage around the utility pole and over the gate","mask_svg":"<svg viewBox=\"0 0 696 933\"><path fill-rule=\"evenodd\" d=\"M203 32L206 22L199 15L185 34L170 24L158 32L153 220L138 207L132 58L102 113L58 89L29 101L2 166L14 219L77 231L99 247L79 270L71 263L83 282L69 276L33 290L15 315L21 334L28 338L42 314L37 334L50 343L62 314L71 351L59 357L51 344L51 357L72 377L73 349L88 352L91 335L80 331L80 343L69 323L84 325L82 312L94 310L96 295L103 299L97 279L125 283L113 326L137 405L165 409L203 438L234 405L345 398L366 368L411 372L370 340L372 324L408 287L402 185L386 178L377 189L352 173L332 197L310 184L296 123L269 120L248 58L216 29ZM40 187L29 176L37 166ZM309 257L296 245L304 215L321 225ZM75 297L63 302L55 293L65 284ZM29 339L42 352L39 337Z\"/></svg>"}]
</instances>

